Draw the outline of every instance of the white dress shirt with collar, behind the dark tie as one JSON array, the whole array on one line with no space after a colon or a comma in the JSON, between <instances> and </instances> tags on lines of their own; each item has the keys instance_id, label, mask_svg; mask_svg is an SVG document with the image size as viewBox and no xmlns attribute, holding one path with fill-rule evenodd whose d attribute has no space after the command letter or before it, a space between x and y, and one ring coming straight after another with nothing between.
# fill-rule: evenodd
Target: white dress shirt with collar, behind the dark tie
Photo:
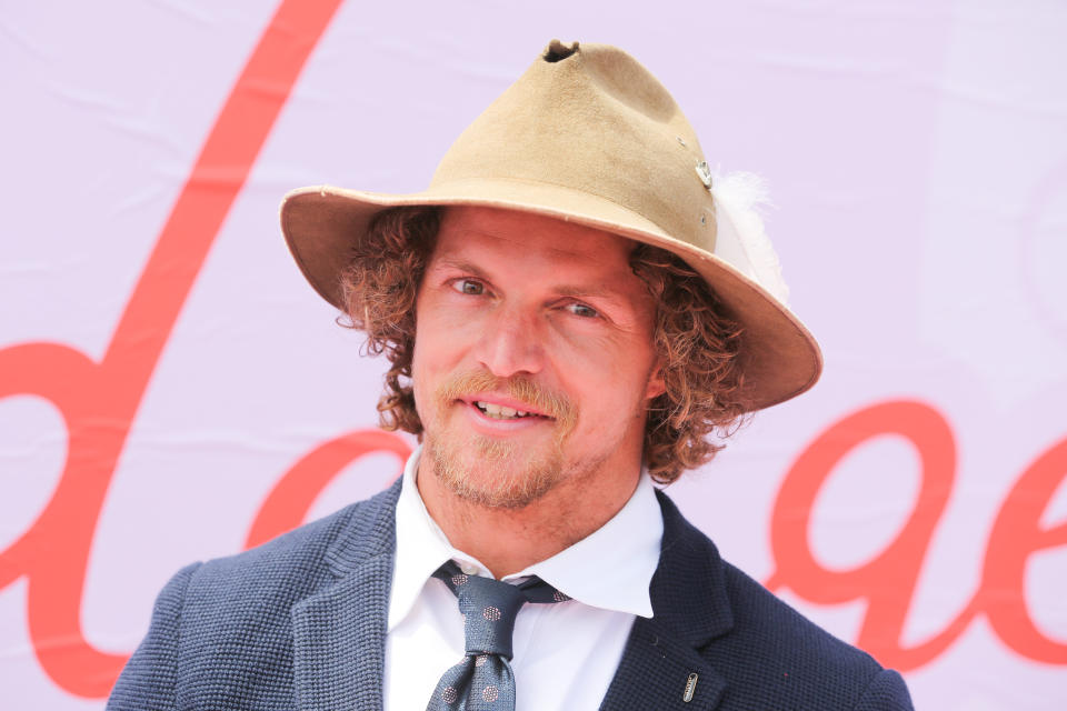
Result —
<instances>
[{"instance_id":1,"label":"white dress shirt with collar, behind the dark tie","mask_svg":"<svg viewBox=\"0 0 1067 711\"><path fill-rule=\"evenodd\" d=\"M432 578L452 559L467 574L491 577L456 550L430 518L416 485L420 450L403 471L397 501L397 558L386 637L386 711L426 708L441 674L463 658L456 595ZM507 582L538 575L571 600L527 604L515 622L516 711L599 708L622 658L635 615L652 617L648 585L659 563L664 521L647 474L600 529Z\"/></svg>"}]
</instances>

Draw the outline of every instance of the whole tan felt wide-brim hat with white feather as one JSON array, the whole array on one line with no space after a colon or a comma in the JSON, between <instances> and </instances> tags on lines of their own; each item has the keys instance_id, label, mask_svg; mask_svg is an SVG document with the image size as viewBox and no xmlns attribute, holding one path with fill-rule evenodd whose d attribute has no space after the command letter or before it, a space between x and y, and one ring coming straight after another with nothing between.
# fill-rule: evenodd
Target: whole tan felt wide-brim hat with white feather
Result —
<instances>
[{"instance_id":1,"label":"whole tan felt wide-brim hat with white feather","mask_svg":"<svg viewBox=\"0 0 1067 711\"><path fill-rule=\"evenodd\" d=\"M460 134L429 188L301 188L281 203L281 229L303 276L338 308L352 246L388 208L502 208L661 247L698 271L742 327L746 395L758 410L810 388L822 359L785 303L746 182L711 174L670 93L632 57L554 40Z\"/></svg>"}]
</instances>

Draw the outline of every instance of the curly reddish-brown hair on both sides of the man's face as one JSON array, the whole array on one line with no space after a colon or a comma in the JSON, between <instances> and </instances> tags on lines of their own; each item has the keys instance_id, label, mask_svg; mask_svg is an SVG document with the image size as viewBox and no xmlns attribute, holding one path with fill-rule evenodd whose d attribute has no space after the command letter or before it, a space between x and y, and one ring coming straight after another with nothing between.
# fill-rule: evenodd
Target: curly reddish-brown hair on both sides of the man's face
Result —
<instances>
[{"instance_id":1,"label":"curly reddish-brown hair on both sides of the man's face","mask_svg":"<svg viewBox=\"0 0 1067 711\"><path fill-rule=\"evenodd\" d=\"M417 435L415 304L441 214L432 207L380 212L341 276L339 322L363 331L366 351L385 353L390 363L378 401L381 425ZM741 328L704 278L671 252L638 243L630 267L657 303L654 341L666 390L648 408L644 458L651 477L666 484L710 461L751 409L738 356ZM709 441L712 435L719 441Z\"/></svg>"}]
</instances>

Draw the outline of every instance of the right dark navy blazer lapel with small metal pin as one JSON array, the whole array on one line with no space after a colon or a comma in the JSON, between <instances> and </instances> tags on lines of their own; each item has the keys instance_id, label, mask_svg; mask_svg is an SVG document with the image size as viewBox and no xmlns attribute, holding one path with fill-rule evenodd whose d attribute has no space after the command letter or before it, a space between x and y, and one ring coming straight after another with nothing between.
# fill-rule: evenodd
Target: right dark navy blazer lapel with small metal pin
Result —
<instances>
[{"instance_id":1,"label":"right dark navy blazer lapel with small metal pin","mask_svg":"<svg viewBox=\"0 0 1067 711\"><path fill-rule=\"evenodd\" d=\"M637 618L604 711L710 711L726 680L699 650L734 627L715 545L657 492L664 543L649 592L651 620Z\"/></svg>"}]
</instances>

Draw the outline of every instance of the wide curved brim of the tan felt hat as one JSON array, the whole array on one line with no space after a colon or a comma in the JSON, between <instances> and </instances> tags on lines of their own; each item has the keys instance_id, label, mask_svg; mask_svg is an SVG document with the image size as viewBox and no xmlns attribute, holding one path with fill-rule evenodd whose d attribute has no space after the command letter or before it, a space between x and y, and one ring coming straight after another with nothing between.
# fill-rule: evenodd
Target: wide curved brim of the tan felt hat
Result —
<instances>
[{"instance_id":1,"label":"wide curved brim of the tan felt hat","mask_svg":"<svg viewBox=\"0 0 1067 711\"><path fill-rule=\"evenodd\" d=\"M481 206L531 212L605 230L678 254L708 282L742 327L740 357L752 410L784 402L818 380L822 354L804 323L755 281L722 259L682 242L610 200L568 188L523 181L449 182L409 194L331 186L286 194L281 230L300 271L315 290L342 309L340 274L356 239L380 211L403 206Z\"/></svg>"}]
</instances>

